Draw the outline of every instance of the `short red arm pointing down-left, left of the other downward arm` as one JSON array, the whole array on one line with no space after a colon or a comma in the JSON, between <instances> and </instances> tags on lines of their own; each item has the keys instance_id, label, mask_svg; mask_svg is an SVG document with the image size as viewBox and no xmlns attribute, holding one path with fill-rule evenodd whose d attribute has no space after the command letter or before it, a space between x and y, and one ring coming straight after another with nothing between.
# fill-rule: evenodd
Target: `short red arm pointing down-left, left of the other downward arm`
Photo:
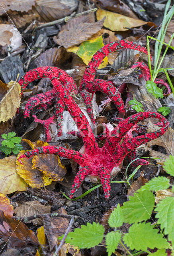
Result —
<instances>
[{"instance_id":1,"label":"short red arm pointing down-left, left of the other downward arm","mask_svg":"<svg viewBox=\"0 0 174 256\"><path fill-rule=\"evenodd\" d=\"M88 166L82 167L78 173L76 174L76 177L74 178L74 182L72 184L72 190L70 192L70 198L73 197L73 194L78 190L84 179L90 175L90 168Z\"/></svg>"}]
</instances>

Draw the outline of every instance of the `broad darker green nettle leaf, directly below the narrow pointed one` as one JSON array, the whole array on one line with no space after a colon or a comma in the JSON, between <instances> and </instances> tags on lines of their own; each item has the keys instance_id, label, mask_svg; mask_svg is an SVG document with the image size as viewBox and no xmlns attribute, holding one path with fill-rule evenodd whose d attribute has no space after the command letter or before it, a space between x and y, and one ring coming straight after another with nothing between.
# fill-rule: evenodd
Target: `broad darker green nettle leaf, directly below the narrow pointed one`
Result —
<instances>
[{"instance_id":1,"label":"broad darker green nettle leaf, directly below the narrow pointed one","mask_svg":"<svg viewBox=\"0 0 174 256\"><path fill-rule=\"evenodd\" d=\"M154 195L150 191L134 193L134 196L129 196L129 201L124 202L121 208L124 222L131 224L147 220L154 208Z\"/></svg>"}]
</instances>

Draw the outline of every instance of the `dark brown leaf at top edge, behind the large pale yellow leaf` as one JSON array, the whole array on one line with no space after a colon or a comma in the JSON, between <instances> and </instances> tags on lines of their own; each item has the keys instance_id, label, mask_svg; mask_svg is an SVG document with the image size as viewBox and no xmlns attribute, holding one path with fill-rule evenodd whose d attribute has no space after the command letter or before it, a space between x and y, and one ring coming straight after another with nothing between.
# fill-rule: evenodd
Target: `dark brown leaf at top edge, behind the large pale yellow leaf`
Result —
<instances>
[{"instance_id":1,"label":"dark brown leaf at top edge, behind the large pale yellow leaf","mask_svg":"<svg viewBox=\"0 0 174 256\"><path fill-rule=\"evenodd\" d=\"M134 12L121 0L93 0L96 6L100 9L109 10L112 12L116 12L127 17L138 19L138 17L134 14Z\"/></svg>"}]
</instances>

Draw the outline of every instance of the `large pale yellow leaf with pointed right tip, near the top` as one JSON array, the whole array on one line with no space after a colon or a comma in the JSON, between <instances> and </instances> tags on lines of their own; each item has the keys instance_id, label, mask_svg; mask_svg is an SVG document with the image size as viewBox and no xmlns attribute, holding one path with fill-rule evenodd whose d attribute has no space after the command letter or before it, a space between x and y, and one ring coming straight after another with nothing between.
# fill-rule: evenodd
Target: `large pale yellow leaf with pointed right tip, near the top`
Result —
<instances>
[{"instance_id":1,"label":"large pale yellow leaf with pointed right tip, near the top","mask_svg":"<svg viewBox=\"0 0 174 256\"><path fill-rule=\"evenodd\" d=\"M126 31L128 30L127 28L135 28L147 24L147 22L143 20L129 18L127 16L102 9L97 10L96 17L97 20L102 20L102 18L106 17L104 20L104 26L112 31Z\"/></svg>"}]
</instances>

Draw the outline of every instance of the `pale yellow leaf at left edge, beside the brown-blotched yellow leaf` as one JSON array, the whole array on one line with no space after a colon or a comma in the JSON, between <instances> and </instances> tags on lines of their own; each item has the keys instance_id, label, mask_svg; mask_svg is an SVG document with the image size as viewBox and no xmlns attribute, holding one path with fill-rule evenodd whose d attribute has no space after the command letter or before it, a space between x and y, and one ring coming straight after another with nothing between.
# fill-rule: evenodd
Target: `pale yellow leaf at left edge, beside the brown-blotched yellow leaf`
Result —
<instances>
[{"instance_id":1,"label":"pale yellow leaf at left edge, beside the brown-blotched yellow leaf","mask_svg":"<svg viewBox=\"0 0 174 256\"><path fill-rule=\"evenodd\" d=\"M10 194L27 189L25 181L16 173L16 156L0 159L0 192Z\"/></svg>"}]
</instances>

